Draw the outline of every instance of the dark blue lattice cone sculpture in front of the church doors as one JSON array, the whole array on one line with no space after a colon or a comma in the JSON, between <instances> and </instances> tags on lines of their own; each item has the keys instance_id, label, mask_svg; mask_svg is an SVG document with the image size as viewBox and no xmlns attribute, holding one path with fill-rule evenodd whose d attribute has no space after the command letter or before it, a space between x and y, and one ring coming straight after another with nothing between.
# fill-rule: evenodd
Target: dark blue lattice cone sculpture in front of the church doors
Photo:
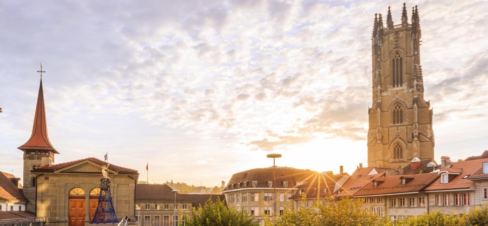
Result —
<instances>
[{"instance_id":1,"label":"dark blue lattice cone sculpture in front of the church doors","mask_svg":"<svg viewBox=\"0 0 488 226\"><path fill-rule=\"evenodd\" d=\"M107 176L108 166L102 167L103 177L100 185L100 194L98 196L98 205L95 215L90 223L118 223L115 214L112 194L110 193L110 179ZM105 171L105 172L104 172Z\"/></svg>"}]
</instances>

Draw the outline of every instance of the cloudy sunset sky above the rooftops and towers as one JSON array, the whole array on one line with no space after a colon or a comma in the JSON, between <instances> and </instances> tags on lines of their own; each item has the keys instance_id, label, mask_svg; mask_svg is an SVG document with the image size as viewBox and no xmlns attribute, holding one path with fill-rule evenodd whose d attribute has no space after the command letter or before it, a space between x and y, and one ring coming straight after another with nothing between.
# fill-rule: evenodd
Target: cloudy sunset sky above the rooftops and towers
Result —
<instances>
[{"instance_id":1,"label":"cloudy sunset sky above the rooftops and towers","mask_svg":"<svg viewBox=\"0 0 488 226\"><path fill-rule=\"evenodd\" d=\"M0 171L22 177L40 62L55 163L213 187L367 164L371 32L398 1L2 1ZM488 2L418 5L435 157L488 150ZM145 167L148 164L149 170Z\"/></svg>"}]
</instances>

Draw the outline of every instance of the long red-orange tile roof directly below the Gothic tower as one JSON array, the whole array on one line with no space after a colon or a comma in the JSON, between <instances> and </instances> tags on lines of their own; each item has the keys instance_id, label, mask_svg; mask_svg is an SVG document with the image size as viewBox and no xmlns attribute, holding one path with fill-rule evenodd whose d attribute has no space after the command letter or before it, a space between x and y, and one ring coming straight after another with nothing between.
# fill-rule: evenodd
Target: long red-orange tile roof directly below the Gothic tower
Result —
<instances>
[{"instance_id":1,"label":"long red-orange tile roof directly below the Gothic tower","mask_svg":"<svg viewBox=\"0 0 488 226\"><path fill-rule=\"evenodd\" d=\"M437 177L439 177L437 173L381 177L375 180L377 181L376 187L373 186L373 182L370 182L357 191L354 196L418 192L432 183L435 179L437 179ZM401 178L407 178L410 180L408 180L405 184L401 184Z\"/></svg>"}]
</instances>

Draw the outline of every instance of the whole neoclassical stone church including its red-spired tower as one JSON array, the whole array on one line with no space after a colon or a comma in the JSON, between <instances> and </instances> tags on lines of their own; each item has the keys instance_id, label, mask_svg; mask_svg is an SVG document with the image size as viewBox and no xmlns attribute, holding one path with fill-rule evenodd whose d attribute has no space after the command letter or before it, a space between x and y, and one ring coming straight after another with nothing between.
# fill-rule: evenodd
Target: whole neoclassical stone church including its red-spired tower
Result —
<instances>
[{"instance_id":1,"label":"whole neoclassical stone church including its red-spired tower","mask_svg":"<svg viewBox=\"0 0 488 226\"><path fill-rule=\"evenodd\" d=\"M24 152L23 193L27 199L26 211L37 217L45 217L47 225L88 225L98 204L102 166L107 163L86 158L54 164L54 155L59 152L47 134L42 77L32 135L19 149ZM118 218L133 217L139 173L113 164L107 171Z\"/></svg>"}]
</instances>

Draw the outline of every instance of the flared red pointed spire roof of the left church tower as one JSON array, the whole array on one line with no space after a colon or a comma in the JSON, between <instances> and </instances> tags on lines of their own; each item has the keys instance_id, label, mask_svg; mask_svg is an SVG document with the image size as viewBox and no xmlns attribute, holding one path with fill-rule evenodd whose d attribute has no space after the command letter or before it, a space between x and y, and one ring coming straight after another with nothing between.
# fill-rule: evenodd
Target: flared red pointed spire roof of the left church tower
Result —
<instances>
[{"instance_id":1,"label":"flared red pointed spire roof of the left church tower","mask_svg":"<svg viewBox=\"0 0 488 226\"><path fill-rule=\"evenodd\" d=\"M42 79L39 84L39 94L37 95L36 114L34 125L32 126L31 138L22 146L18 147L22 151L26 150L48 150L56 154L58 151L52 146L47 136L46 109L44 107L44 93L42 91Z\"/></svg>"}]
</instances>

